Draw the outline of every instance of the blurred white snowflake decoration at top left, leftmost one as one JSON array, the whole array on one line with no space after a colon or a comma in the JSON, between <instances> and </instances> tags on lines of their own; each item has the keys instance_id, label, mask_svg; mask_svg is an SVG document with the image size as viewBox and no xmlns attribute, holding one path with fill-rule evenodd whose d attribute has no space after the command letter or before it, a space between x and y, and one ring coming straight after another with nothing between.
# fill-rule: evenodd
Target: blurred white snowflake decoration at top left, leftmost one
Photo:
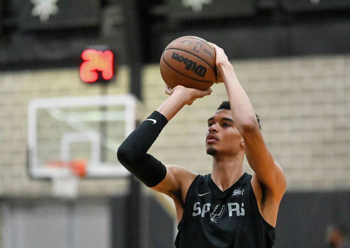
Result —
<instances>
[{"instance_id":1,"label":"blurred white snowflake decoration at top left, leftmost one","mask_svg":"<svg viewBox=\"0 0 350 248\"><path fill-rule=\"evenodd\" d=\"M41 22L47 22L50 15L55 15L58 12L56 3L58 0L30 0L34 4L31 11L32 16L39 16Z\"/></svg>"}]
</instances>

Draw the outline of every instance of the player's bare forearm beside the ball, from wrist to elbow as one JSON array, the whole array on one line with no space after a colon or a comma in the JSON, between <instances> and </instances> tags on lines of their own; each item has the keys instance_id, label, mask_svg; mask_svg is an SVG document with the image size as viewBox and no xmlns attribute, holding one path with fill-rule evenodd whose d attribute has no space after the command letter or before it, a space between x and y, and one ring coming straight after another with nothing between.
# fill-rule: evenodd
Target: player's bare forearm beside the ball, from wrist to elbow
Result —
<instances>
[{"instance_id":1,"label":"player's bare forearm beside the ball, from wrist to elbow","mask_svg":"<svg viewBox=\"0 0 350 248\"><path fill-rule=\"evenodd\" d=\"M217 70L223 77L229 96L232 118L240 134L244 133L247 125L253 124L259 127L252 103L239 83L232 65L229 62L223 63L217 67Z\"/></svg>"}]
</instances>

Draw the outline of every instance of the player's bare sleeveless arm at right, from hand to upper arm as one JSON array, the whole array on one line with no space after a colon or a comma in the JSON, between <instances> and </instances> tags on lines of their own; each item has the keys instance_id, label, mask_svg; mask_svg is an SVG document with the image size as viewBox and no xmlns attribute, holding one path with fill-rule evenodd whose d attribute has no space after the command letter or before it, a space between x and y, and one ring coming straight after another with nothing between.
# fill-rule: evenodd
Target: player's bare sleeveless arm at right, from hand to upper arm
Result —
<instances>
[{"instance_id":1,"label":"player's bare sleeveless arm at right, from hand to upper arm","mask_svg":"<svg viewBox=\"0 0 350 248\"><path fill-rule=\"evenodd\" d=\"M218 77L226 87L232 118L244 140L245 153L257 179L273 196L281 198L286 189L286 180L281 167L274 162L259 129L253 106L240 85L233 66L223 49L213 44L216 50Z\"/></svg>"}]
</instances>

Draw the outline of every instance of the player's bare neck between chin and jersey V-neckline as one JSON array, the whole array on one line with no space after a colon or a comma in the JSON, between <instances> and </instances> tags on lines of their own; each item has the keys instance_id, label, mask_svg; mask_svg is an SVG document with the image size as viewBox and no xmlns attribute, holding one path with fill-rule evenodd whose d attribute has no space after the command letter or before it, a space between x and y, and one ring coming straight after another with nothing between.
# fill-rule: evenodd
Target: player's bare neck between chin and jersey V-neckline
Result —
<instances>
[{"instance_id":1,"label":"player's bare neck between chin and jersey V-neckline","mask_svg":"<svg viewBox=\"0 0 350 248\"><path fill-rule=\"evenodd\" d=\"M211 179L222 191L231 187L244 174L244 151L233 156L214 156Z\"/></svg>"}]
</instances>

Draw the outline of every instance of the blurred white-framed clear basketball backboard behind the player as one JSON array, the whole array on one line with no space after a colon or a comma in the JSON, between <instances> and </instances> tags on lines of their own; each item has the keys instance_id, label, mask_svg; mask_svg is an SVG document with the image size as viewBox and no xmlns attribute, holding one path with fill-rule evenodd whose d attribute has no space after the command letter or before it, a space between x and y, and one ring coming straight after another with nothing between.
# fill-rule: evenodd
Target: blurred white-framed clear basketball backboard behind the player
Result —
<instances>
[{"instance_id":1,"label":"blurred white-framed clear basketball backboard behind the player","mask_svg":"<svg viewBox=\"0 0 350 248\"><path fill-rule=\"evenodd\" d=\"M136 128L140 102L131 94L34 99L28 107L28 166L33 178L55 178L52 166L86 161L85 177L125 177L117 150Z\"/></svg>"}]
</instances>

